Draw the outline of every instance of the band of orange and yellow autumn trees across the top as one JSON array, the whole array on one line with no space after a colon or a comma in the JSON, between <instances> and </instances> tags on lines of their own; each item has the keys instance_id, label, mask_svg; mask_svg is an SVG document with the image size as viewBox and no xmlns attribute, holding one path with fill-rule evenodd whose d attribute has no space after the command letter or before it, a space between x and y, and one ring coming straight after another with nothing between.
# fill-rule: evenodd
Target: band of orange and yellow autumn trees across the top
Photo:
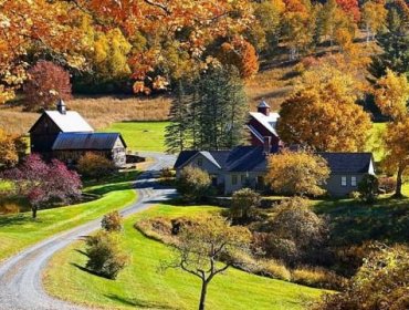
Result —
<instances>
[{"instance_id":1,"label":"band of orange and yellow autumn trees across the top","mask_svg":"<svg viewBox=\"0 0 409 310\"><path fill-rule=\"evenodd\" d=\"M0 9L0 102L41 60L67 70L76 92L149 94L211 63L234 65L249 79L260 58L298 60L321 46L360 56L353 44L359 29L367 41L392 37L389 48L408 49L403 0L7 0Z\"/></svg>"}]
</instances>

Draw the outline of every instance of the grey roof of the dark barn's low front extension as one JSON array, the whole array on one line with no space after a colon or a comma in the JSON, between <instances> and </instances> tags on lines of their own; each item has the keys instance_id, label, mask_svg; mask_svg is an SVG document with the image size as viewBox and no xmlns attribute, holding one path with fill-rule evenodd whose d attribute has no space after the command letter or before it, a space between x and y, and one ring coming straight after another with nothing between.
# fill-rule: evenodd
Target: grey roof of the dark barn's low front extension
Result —
<instances>
[{"instance_id":1,"label":"grey roof of the dark barn's low front extension","mask_svg":"<svg viewBox=\"0 0 409 310\"><path fill-rule=\"evenodd\" d=\"M119 133L60 133L56 137L53 151L103 151L112 149L115 142L120 138L126 147L126 143Z\"/></svg>"}]
</instances>

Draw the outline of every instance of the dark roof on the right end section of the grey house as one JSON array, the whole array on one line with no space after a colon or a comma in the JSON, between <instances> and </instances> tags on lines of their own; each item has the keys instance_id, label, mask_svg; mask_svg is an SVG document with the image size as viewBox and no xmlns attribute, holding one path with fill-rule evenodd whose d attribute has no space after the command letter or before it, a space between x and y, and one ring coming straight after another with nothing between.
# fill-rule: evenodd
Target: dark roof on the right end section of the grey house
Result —
<instances>
[{"instance_id":1,"label":"dark roof on the right end section of the grey house","mask_svg":"<svg viewBox=\"0 0 409 310\"><path fill-rule=\"evenodd\" d=\"M327 161L332 173L368 173L371 153L318 153Z\"/></svg>"}]
</instances>

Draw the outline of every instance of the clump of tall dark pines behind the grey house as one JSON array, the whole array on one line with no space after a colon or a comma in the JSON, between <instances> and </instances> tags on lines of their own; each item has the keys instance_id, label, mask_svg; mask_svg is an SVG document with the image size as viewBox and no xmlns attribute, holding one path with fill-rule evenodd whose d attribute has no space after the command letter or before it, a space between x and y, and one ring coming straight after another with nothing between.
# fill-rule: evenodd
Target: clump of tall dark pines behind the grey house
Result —
<instances>
[{"instance_id":1,"label":"clump of tall dark pines behind the grey house","mask_svg":"<svg viewBox=\"0 0 409 310\"><path fill-rule=\"evenodd\" d=\"M248 110L235 68L211 68L189 85L179 82L166 133L168 151L228 149L245 143Z\"/></svg>"}]
</instances>

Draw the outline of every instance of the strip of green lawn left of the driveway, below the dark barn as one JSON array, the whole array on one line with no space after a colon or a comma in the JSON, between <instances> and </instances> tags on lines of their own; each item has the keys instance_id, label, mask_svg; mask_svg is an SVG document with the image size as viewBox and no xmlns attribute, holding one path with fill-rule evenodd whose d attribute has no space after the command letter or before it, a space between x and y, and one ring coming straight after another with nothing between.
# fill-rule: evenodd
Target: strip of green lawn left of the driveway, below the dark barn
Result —
<instances>
[{"instance_id":1,"label":"strip of green lawn left of the driveway, below the dark barn","mask_svg":"<svg viewBox=\"0 0 409 310\"><path fill-rule=\"evenodd\" d=\"M0 216L0 261L21 249L54 234L67 230L115 209L120 209L136 199L132 180L136 173L120 174L103 185L90 184L84 192L103 195L102 198L84 204L44 209L38 219L31 213Z\"/></svg>"}]
</instances>

